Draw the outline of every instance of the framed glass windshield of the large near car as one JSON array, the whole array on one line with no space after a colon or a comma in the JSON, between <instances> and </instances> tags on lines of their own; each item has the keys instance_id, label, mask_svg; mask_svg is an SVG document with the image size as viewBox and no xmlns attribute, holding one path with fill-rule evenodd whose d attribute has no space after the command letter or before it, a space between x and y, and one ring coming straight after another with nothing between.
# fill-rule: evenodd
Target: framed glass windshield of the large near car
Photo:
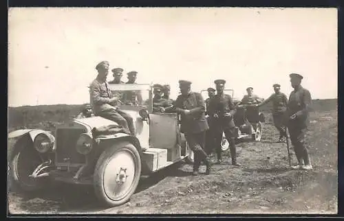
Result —
<instances>
[{"instance_id":1,"label":"framed glass windshield of the large near car","mask_svg":"<svg viewBox=\"0 0 344 221\"><path fill-rule=\"evenodd\" d=\"M119 106L149 105L150 84L109 84L114 96L120 97Z\"/></svg>"}]
</instances>

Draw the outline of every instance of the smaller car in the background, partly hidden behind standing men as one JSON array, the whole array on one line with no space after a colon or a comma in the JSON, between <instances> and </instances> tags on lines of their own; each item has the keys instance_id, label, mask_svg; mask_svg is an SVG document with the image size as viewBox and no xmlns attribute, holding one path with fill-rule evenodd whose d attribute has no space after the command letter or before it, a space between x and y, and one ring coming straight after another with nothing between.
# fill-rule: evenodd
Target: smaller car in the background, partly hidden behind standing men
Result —
<instances>
[{"instance_id":1,"label":"smaller car in the background, partly hidden behind standing men","mask_svg":"<svg viewBox=\"0 0 344 221\"><path fill-rule=\"evenodd\" d=\"M233 89L225 89L224 93L234 97ZM208 92L206 89L201 91L204 100L208 98ZM234 115L234 122L236 128L236 140L250 138L252 141L261 141L262 123L265 121L264 113L259 112L259 108L250 105L239 104L240 100L233 98L233 102L236 107L236 113ZM208 116L207 116L208 117ZM223 151L228 150L229 143L222 135L221 148Z\"/></svg>"}]
</instances>

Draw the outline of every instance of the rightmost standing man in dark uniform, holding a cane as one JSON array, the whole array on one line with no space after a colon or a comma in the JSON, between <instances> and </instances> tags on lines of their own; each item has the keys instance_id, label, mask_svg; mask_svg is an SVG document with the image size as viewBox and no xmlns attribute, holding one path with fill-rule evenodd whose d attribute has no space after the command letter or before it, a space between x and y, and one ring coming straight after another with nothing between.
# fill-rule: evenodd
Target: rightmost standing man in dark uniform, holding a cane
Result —
<instances>
[{"instance_id":1,"label":"rightmost standing man in dark uniform, holding a cane","mask_svg":"<svg viewBox=\"0 0 344 221\"><path fill-rule=\"evenodd\" d=\"M312 163L305 145L305 132L309 124L308 112L312 105L312 97L310 91L301 86L302 79L303 76L298 73L290 74L290 82L294 91L290 93L287 108L289 116L288 130L297 161L299 162L298 165L292 166L292 168L312 170Z\"/></svg>"}]
</instances>

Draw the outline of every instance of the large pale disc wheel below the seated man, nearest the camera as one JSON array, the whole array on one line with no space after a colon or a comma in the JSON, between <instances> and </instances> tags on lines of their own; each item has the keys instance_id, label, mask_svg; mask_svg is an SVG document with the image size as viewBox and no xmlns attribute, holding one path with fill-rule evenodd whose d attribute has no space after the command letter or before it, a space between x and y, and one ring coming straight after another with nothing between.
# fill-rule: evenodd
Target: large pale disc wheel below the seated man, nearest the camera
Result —
<instances>
[{"instance_id":1,"label":"large pale disc wheel below the seated man, nearest the camera","mask_svg":"<svg viewBox=\"0 0 344 221\"><path fill-rule=\"evenodd\" d=\"M138 187L141 159L131 143L119 143L100 155L94 171L94 189L101 202L116 207L127 202Z\"/></svg>"}]
</instances>

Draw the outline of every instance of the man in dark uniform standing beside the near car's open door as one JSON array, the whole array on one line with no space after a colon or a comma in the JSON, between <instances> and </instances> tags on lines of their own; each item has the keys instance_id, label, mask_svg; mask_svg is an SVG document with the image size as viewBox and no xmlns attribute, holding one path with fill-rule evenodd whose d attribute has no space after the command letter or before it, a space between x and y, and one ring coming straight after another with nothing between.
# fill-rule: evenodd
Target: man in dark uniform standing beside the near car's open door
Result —
<instances>
[{"instance_id":1,"label":"man in dark uniform standing beside the near car's open door","mask_svg":"<svg viewBox=\"0 0 344 221\"><path fill-rule=\"evenodd\" d=\"M179 84L182 94L175 100L175 111L180 114L180 130L195 154L193 175L197 176L202 161L206 165L206 174L209 174L211 165L204 152L205 133L209 128L204 115L204 100L200 93L191 91L191 82L180 80Z\"/></svg>"}]
</instances>

